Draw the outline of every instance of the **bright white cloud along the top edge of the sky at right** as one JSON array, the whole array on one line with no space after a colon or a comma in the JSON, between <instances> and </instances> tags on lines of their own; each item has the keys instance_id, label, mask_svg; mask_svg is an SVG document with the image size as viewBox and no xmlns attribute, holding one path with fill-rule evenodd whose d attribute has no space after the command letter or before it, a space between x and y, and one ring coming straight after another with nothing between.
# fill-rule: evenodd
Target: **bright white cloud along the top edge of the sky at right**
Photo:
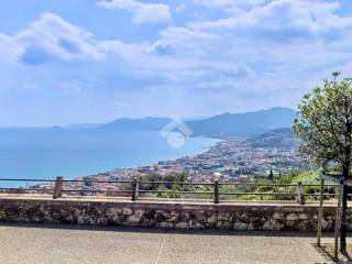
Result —
<instances>
[{"instance_id":1,"label":"bright white cloud along the top edge of the sky at right","mask_svg":"<svg viewBox=\"0 0 352 264\"><path fill-rule=\"evenodd\" d=\"M235 7L238 11L235 15L197 22L191 24L191 28L197 30L231 30L256 26L265 30L305 30L315 34L352 28L352 18L339 16L334 13L340 7L338 2L280 0L263 3L264 1L251 1L248 3L250 8L240 9L241 2L231 6ZM212 0L212 4L226 8L230 1Z\"/></svg>"}]
</instances>

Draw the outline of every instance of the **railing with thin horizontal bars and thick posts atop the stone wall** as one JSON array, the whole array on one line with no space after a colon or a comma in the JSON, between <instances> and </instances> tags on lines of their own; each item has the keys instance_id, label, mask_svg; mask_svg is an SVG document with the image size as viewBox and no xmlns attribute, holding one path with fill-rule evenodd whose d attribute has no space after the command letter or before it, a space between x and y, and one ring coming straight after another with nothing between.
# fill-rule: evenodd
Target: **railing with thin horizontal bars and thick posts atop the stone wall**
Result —
<instances>
[{"instance_id":1,"label":"railing with thin horizontal bars and thick posts atop the stone wall","mask_svg":"<svg viewBox=\"0 0 352 264\"><path fill-rule=\"evenodd\" d=\"M53 199L61 198L63 194L125 194L129 195L132 199L132 201L136 201L142 194L173 194L173 195L209 195L213 198L213 204L220 202L220 197L229 197L229 196L273 196L273 197L292 197L292 200L296 199L298 204L304 205L306 197L319 197L320 193L314 193L308 194L304 191L305 187L320 187L318 184L301 184L300 182L297 184L256 184L256 183L219 183L218 180L215 180L213 183L189 183L189 182L148 182L148 180L139 180L138 178L134 178L133 180L85 180L85 179L64 179L62 176L56 177L56 179L29 179L29 178L0 178L0 184L3 182L22 182L22 183L40 183L43 184L45 187L37 188L34 187L0 187L0 191L2 193L21 193L21 191L34 191L34 193L45 193L53 195ZM94 184L128 184L131 186L131 189L108 189L108 190L101 190L101 189L65 189L64 184L65 183L85 183L89 184L89 187L92 187ZM47 184L52 184L52 189L46 188ZM193 187L212 187L212 190L174 190L174 189L144 189L141 188L141 186L145 185L152 185L152 186L193 186ZM274 191L221 191L222 186L235 186L235 187L251 187L251 188L260 188L260 187L268 187L273 188ZM336 184L327 184L326 187L338 187ZM287 191L277 191L275 188L277 187L294 187L295 191L287 193ZM323 194L324 197L334 197L338 196L338 194L331 194L326 193Z\"/></svg>"}]
</instances>

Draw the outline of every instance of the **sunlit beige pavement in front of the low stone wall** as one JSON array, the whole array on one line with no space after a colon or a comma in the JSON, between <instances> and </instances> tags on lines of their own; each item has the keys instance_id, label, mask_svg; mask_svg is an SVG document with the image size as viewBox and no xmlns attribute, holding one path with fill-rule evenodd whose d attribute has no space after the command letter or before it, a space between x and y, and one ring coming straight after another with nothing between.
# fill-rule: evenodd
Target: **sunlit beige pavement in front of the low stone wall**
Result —
<instances>
[{"instance_id":1,"label":"sunlit beige pavement in front of the low stone wall","mask_svg":"<svg viewBox=\"0 0 352 264\"><path fill-rule=\"evenodd\" d=\"M10 224L0 226L0 263L327 263L314 241L297 233Z\"/></svg>"}]
</instances>

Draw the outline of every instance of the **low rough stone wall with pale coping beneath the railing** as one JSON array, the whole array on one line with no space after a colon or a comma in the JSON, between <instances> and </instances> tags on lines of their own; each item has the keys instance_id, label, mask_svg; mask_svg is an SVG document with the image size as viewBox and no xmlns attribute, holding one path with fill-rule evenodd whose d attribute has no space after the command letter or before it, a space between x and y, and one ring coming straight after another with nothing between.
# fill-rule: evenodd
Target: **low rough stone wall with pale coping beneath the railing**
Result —
<instances>
[{"instance_id":1,"label":"low rough stone wall with pale coping beneath the railing","mask_svg":"<svg viewBox=\"0 0 352 264\"><path fill-rule=\"evenodd\" d=\"M333 230L334 205L323 230ZM317 205L193 204L85 199L0 198L0 221L222 230L316 230ZM352 216L349 212L349 227Z\"/></svg>"}]
</instances>

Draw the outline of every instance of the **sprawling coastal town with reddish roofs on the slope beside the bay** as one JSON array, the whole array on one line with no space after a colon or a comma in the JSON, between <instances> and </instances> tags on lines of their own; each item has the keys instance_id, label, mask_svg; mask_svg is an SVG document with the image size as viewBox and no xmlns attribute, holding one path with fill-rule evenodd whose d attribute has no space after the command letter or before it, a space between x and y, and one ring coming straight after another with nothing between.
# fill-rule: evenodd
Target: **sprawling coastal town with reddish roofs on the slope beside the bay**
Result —
<instances>
[{"instance_id":1,"label":"sprawling coastal town with reddish roofs on the slope beside the bay","mask_svg":"<svg viewBox=\"0 0 352 264\"><path fill-rule=\"evenodd\" d=\"M256 177L285 176L295 169L305 169L296 144L258 145L245 139L218 142L206 152L172 161L134 168L117 168L111 172L78 177L81 182L65 183L67 189L99 191L119 190L113 180L131 180L148 175L165 177L185 174L189 183L250 183ZM105 182L95 183L92 182Z\"/></svg>"}]
</instances>

